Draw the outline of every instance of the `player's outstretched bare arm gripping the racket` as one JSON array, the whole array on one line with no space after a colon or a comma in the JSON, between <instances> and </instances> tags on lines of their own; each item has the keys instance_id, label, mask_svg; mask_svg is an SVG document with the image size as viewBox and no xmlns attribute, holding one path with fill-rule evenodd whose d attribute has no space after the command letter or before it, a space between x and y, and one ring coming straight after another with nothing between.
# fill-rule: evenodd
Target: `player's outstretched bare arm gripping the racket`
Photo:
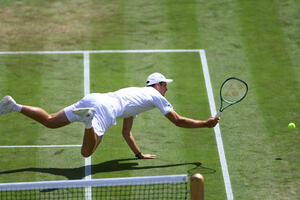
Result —
<instances>
[{"instance_id":1,"label":"player's outstretched bare arm gripping the racket","mask_svg":"<svg viewBox=\"0 0 300 200\"><path fill-rule=\"evenodd\" d=\"M174 110L165 115L173 124L182 128L212 128L217 125L220 118L210 117L208 120L195 120L182 117Z\"/></svg>"}]
</instances>

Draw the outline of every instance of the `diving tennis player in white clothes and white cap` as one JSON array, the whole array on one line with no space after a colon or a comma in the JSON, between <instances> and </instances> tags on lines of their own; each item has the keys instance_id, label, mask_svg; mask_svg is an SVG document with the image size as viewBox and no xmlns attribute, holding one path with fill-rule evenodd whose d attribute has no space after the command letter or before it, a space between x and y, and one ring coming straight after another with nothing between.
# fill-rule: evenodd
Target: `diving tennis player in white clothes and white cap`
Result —
<instances>
[{"instance_id":1,"label":"diving tennis player in white clothes and white cap","mask_svg":"<svg viewBox=\"0 0 300 200\"><path fill-rule=\"evenodd\" d=\"M152 154L143 154L132 135L134 118L147 110L158 108L176 126L184 128L212 128L220 118L210 117L208 120L194 120L180 116L166 100L167 84L172 79L160 73L148 76L146 87L129 87L109 93L92 93L77 103L70 105L55 114L48 114L39 107L20 105L10 96L0 101L0 115L12 111L43 124L48 128L59 128L72 122L85 124L81 154L89 157L100 144L105 132L111 125L116 125L116 118L123 118L122 134L128 146L139 159L156 158Z\"/></svg>"}]
</instances>

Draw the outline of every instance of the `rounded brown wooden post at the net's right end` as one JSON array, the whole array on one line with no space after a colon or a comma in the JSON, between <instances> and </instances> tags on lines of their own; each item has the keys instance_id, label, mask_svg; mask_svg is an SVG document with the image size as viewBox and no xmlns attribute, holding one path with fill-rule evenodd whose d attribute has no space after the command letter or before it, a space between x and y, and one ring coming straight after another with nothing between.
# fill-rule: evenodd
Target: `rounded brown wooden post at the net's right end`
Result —
<instances>
[{"instance_id":1,"label":"rounded brown wooden post at the net's right end","mask_svg":"<svg viewBox=\"0 0 300 200\"><path fill-rule=\"evenodd\" d=\"M201 174L193 174L191 180L191 200L204 200L204 177Z\"/></svg>"}]
</instances>

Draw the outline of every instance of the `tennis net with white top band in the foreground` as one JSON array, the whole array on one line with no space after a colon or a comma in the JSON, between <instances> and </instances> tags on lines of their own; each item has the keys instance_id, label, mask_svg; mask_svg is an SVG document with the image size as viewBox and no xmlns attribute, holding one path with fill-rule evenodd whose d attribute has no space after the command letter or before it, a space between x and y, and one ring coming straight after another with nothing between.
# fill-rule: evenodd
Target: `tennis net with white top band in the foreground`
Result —
<instances>
[{"instance_id":1,"label":"tennis net with white top band in the foreground","mask_svg":"<svg viewBox=\"0 0 300 200\"><path fill-rule=\"evenodd\" d=\"M187 199L187 175L0 184L1 200Z\"/></svg>"}]
</instances>

